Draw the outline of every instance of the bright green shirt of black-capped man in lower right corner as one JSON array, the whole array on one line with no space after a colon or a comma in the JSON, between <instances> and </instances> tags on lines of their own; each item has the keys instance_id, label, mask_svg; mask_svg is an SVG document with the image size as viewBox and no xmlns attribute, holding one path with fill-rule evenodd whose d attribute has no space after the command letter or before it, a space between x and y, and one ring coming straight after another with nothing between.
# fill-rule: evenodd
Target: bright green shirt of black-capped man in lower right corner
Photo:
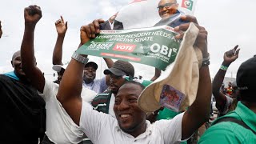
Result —
<instances>
[{"instance_id":1,"label":"bright green shirt of black-capped man in lower right corner","mask_svg":"<svg viewBox=\"0 0 256 144\"><path fill-rule=\"evenodd\" d=\"M226 114L225 117L237 118L242 120L249 126L254 132L256 132L256 114L247 108L242 102L238 102L237 108ZM219 118L218 118L219 119ZM213 122L213 125L216 121ZM218 124L211 126L206 133L202 135L199 143L256 143L256 135L243 126L234 122L219 122Z\"/></svg>"}]
</instances>

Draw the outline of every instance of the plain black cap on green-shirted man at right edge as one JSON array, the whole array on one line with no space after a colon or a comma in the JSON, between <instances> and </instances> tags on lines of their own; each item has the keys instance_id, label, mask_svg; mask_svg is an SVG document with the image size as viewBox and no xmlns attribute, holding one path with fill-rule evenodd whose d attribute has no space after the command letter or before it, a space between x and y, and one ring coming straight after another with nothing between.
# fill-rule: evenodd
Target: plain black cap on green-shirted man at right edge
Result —
<instances>
[{"instance_id":1,"label":"plain black cap on green-shirted man at right edge","mask_svg":"<svg viewBox=\"0 0 256 144\"><path fill-rule=\"evenodd\" d=\"M254 89L256 86L256 57L248 59L246 62L243 62L238 69L237 73L237 85L238 90L240 90L241 98L247 96L254 96ZM256 97L254 98L256 100Z\"/></svg>"}]
</instances>

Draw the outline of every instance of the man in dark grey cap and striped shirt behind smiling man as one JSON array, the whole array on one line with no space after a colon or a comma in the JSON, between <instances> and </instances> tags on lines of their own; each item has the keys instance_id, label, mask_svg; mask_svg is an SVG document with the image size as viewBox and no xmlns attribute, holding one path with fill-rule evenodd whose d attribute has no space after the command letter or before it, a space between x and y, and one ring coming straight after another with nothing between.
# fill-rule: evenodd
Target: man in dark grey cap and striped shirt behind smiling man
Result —
<instances>
[{"instance_id":1,"label":"man in dark grey cap and striped shirt behind smiling man","mask_svg":"<svg viewBox=\"0 0 256 144\"><path fill-rule=\"evenodd\" d=\"M113 110L115 95L124 82L134 78L134 66L130 62L118 60L110 69L104 70L104 74L110 74L110 90L98 94L91 105L94 106L94 110L115 117Z\"/></svg>"}]
</instances>

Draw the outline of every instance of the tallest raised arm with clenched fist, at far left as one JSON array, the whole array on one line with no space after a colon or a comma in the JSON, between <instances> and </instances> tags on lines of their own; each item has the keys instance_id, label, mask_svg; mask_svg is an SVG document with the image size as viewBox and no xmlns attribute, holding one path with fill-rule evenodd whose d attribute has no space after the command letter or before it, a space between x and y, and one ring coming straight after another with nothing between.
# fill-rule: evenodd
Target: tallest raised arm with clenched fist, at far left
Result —
<instances>
[{"instance_id":1,"label":"tallest raised arm with clenched fist, at far left","mask_svg":"<svg viewBox=\"0 0 256 144\"><path fill-rule=\"evenodd\" d=\"M29 6L24 10L25 30L22 39L21 57L22 70L30 79L32 86L42 93L45 86L45 78L41 70L36 66L34 58L34 29L37 22L42 18L39 6Z\"/></svg>"}]
</instances>

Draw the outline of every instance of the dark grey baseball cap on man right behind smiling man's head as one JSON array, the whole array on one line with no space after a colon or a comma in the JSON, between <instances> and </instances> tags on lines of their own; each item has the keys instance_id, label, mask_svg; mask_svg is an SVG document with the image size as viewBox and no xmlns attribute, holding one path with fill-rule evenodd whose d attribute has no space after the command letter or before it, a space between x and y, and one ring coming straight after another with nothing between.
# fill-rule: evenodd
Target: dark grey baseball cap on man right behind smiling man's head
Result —
<instances>
[{"instance_id":1,"label":"dark grey baseball cap on man right behind smiling man's head","mask_svg":"<svg viewBox=\"0 0 256 144\"><path fill-rule=\"evenodd\" d=\"M134 66L130 62L118 60L114 62L114 65L110 69L104 70L104 74L134 77Z\"/></svg>"}]
</instances>

